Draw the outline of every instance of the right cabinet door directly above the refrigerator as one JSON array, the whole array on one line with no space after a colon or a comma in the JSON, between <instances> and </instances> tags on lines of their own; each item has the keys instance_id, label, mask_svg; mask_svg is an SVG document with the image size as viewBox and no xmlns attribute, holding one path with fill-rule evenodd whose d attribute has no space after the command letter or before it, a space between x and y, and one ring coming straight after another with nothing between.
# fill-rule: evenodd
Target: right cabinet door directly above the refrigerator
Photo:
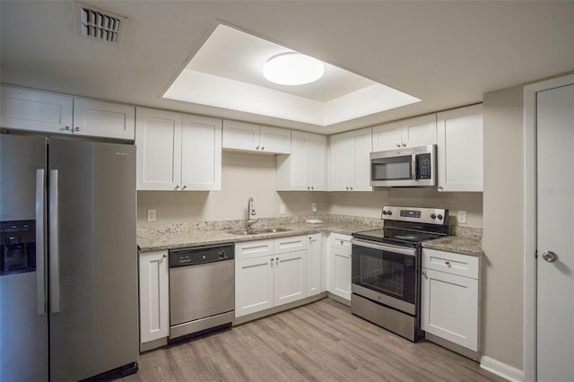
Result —
<instances>
[{"instance_id":1,"label":"right cabinet door directly above the refrigerator","mask_svg":"<svg viewBox=\"0 0 574 382\"><path fill-rule=\"evenodd\" d=\"M135 107L102 100L74 98L74 135L133 141Z\"/></svg>"}]
</instances>

